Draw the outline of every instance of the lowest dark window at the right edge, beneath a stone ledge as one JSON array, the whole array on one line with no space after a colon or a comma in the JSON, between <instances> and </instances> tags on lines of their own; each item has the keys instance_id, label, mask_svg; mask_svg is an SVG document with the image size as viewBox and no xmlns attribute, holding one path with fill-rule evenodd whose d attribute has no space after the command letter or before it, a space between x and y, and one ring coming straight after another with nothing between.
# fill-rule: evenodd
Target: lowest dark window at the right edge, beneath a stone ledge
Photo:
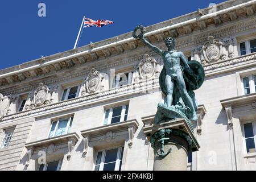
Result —
<instances>
[{"instance_id":1,"label":"lowest dark window at the right edge, beneath a stone ledge","mask_svg":"<svg viewBox=\"0 0 256 182\"><path fill-rule=\"evenodd\" d=\"M245 134L246 152L252 153L255 151L255 122L243 124L243 131Z\"/></svg>"}]
</instances>

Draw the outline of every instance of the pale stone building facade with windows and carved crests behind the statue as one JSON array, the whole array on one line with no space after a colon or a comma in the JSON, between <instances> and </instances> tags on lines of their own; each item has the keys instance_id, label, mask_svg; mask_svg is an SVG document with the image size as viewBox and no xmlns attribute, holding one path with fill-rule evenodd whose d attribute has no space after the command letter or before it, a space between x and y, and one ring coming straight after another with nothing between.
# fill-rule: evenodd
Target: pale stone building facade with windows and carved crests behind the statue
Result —
<instances>
[{"instance_id":1,"label":"pale stone building facade with windows and carved crests behind the statue","mask_svg":"<svg viewBox=\"0 0 256 182\"><path fill-rule=\"evenodd\" d=\"M256 1L146 27L205 70L188 170L256 169ZM143 22L142 22L143 23ZM131 32L0 71L0 170L152 170L162 59Z\"/></svg>"}]
</instances>

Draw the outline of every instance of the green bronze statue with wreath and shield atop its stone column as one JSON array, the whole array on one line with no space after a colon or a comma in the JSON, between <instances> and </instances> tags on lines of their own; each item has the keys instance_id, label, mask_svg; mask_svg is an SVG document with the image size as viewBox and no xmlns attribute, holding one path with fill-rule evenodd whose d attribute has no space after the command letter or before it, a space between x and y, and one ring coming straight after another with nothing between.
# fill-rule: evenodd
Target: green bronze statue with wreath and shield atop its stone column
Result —
<instances>
[{"instance_id":1,"label":"green bronze statue with wreath and shield atop its stone column","mask_svg":"<svg viewBox=\"0 0 256 182\"><path fill-rule=\"evenodd\" d=\"M167 50L162 50L149 43L144 32L143 26L137 26L133 37L160 55L164 63L159 76L164 104L158 104L154 122L146 121L143 127L154 148L154 170L187 170L188 151L199 149L191 121L197 120L193 90L203 84L204 69L198 61L187 61L183 52L174 50L174 38L165 38Z\"/></svg>"}]
</instances>

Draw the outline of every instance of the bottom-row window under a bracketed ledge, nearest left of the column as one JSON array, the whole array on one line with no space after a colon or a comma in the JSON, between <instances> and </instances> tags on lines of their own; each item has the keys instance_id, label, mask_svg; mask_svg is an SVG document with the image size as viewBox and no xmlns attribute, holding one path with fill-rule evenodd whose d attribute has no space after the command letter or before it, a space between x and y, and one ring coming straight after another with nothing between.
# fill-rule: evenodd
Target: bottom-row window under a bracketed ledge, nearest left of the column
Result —
<instances>
[{"instance_id":1,"label":"bottom-row window under a bracketed ledge, nearest left of the column","mask_svg":"<svg viewBox=\"0 0 256 182\"><path fill-rule=\"evenodd\" d=\"M123 147L99 151L94 171L120 171L122 166Z\"/></svg>"}]
</instances>

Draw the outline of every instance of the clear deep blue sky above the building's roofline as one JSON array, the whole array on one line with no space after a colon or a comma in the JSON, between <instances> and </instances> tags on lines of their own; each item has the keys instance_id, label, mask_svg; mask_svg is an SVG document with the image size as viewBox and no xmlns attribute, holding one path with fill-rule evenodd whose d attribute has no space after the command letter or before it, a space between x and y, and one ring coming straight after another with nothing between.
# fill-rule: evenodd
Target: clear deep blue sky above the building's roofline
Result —
<instances>
[{"instance_id":1,"label":"clear deep blue sky above the building's roofline","mask_svg":"<svg viewBox=\"0 0 256 182\"><path fill-rule=\"evenodd\" d=\"M41 2L46 4L46 17L38 16ZM132 31L138 24L150 26L220 2L224 0L3 1L0 69L72 49L84 15L94 20L113 20L114 24L84 28L79 47Z\"/></svg>"}]
</instances>

